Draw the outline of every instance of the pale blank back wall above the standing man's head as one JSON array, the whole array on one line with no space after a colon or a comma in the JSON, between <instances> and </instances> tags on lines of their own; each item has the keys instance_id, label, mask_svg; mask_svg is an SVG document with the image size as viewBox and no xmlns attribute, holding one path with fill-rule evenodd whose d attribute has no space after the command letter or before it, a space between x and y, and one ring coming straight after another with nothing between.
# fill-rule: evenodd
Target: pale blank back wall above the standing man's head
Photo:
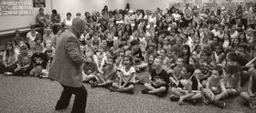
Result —
<instances>
[{"instance_id":1,"label":"pale blank back wall above the standing man's head","mask_svg":"<svg viewBox=\"0 0 256 113\"><path fill-rule=\"evenodd\" d=\"M78 12L84 16L85 12L101 11L104 5L108 5L109 9L123 9L125 0L52 0L53 8L59 12L59 15L66 17L70 12L74 17Z\"/></svg>"}]
</instances>

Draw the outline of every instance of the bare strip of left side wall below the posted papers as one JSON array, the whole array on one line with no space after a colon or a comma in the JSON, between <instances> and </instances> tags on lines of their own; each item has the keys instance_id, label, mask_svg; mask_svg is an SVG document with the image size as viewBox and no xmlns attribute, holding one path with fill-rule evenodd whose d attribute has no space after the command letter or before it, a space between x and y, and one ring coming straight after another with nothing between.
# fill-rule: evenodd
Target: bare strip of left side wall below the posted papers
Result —
<instances>
[{"instance_id":1,"label":"bare strip of left side wall below the posted papers","mask_svg":"<svg viewBox=\"0 0 256 113\"><path fill-rule=\"evenodd\" d=\"M51 0L46 0L45 14L51 12ZM29 24L34 25L36 23L36 15L39 8L33 9L33 15L1 15L0 16L0 31L15 29L20 27L27 27Z\"/></svg>"}]
</instances>

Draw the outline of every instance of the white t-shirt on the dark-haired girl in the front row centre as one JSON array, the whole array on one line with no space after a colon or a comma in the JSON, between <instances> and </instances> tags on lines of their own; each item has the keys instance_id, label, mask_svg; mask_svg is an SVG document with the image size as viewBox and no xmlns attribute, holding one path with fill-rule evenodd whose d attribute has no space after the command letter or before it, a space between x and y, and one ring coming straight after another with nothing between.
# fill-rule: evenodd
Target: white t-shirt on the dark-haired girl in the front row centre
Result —
<instances>
[{"instance_id":1,"label":"white t-shirt on the dark-haired girl in the front row centre","mask_svg":"<svg viewBox=\"0 0 256 113\"><path fill-rule=\"evenodd\" d=\"M125 71L125 67L121 67L121 72L123 72L123 82L125 82L129 79L130 75L135 73L136 71L135 71L134 67L131 67L129 69L129 71ZM131 78L131 80L129 82L135 83L135 74L133 75L133 77Z\"/></svg>"}]
</instances>

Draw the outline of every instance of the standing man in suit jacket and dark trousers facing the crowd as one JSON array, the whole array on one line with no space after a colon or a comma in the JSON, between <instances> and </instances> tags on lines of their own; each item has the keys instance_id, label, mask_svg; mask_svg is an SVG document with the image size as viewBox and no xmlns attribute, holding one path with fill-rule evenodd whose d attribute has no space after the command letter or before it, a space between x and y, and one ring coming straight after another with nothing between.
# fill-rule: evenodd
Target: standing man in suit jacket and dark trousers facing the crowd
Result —
<instances>
[{"instance_id":1,"label":"standing man in suit jacket and dark trousers facing the crowd","mask_svg":"<svg viewBox=\"0 0 256 113\"><path fill-rule=\"evenodd\" d=\"M56 105L56 110L69 106L72 94L75 95L71 113L84 113L87 90L82 85L81 65L86 61L80 53L79 37L84 31L85 20L74 18L72 26L57 40L56 52L49 68L49 77L64 87Z\"/></svg>"}]
</instances>

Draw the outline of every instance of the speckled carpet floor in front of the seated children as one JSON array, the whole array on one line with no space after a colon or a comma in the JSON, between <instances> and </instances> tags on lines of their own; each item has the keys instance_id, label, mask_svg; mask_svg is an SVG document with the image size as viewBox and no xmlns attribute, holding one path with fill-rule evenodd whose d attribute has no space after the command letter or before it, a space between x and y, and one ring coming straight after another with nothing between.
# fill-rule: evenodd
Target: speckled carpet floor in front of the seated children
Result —
<instances>
[{"instance_id":1,"label":"speckled carpet floor in front of the seated children","mask_svg":"<svg viewBox=\"0 0 256 113\"><path fill-rule=\"evenodd\" d=\"M110 92L101 87L88 89L87 113L255 113L250 108L240 107L231 98L226 109L220 109L203 104L179 106L171 102L168 96L157 98L144 95L140 91L142 86L137 86L134 95ZM69 113L74 97L69 108L55 111L54 107L59 99L62 87L55 81L37 77L5 77L0 75L0 113Z\"/></svg>"}]
</instances>

